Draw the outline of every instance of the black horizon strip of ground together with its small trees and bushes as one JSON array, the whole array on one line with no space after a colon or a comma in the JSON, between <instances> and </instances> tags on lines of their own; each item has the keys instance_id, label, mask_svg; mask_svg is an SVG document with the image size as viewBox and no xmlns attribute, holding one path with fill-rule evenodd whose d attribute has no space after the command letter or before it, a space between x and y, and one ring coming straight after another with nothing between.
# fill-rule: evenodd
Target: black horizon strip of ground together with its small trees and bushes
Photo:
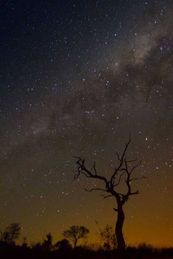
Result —
<instances>
[{"instance_id":1,"label":"black horizon strip of ground together with its small trees and bushes","mask_svg":"<svg viewBox=\"0 0 173 259\"><path fill-rule=\"evenodd\" d=\"M96 224L98 226L97 222ZM103 229L98 226L100 244L84 243L80 246L78 241L85 240L89 234L89 229L84 226L71 226L64 230L62 233L64 238L54 244L53 236L48 233L42 242L34 243L31 247L28 246L26 237L23 237L21 246L15 244L20 230L19 223L11 223L0 230L0 258L173 258L173 248L157 249L145 242L137 247L128 246L125 251L118 250L113 227L108 224Z\"/></svg>"}]
</instances>

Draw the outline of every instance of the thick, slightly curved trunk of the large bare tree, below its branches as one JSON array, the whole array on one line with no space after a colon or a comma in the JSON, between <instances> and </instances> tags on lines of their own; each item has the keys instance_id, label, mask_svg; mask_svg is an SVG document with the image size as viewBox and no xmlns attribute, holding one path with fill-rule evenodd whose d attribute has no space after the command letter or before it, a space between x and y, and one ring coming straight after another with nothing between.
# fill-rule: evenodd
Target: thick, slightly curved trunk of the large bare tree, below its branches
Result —
<instances>
[{"instance_id":1,"label":"thick, slightly curved trunk of the large bare tree, below its branches","mask_svg":"<svg viewBox=\"0 0 173 259\"><path fill-rule=\"evenodd\" d=\"M124 237L123 237L123 223L124 223L124 212L122 208L118 209L118 216L117 216L117 221L116 221L116 225L115 225L115 235L117 238L117 248L119 250L125 250L126 248L126 244L124 241Z\"/></svg>"}]
</instances>

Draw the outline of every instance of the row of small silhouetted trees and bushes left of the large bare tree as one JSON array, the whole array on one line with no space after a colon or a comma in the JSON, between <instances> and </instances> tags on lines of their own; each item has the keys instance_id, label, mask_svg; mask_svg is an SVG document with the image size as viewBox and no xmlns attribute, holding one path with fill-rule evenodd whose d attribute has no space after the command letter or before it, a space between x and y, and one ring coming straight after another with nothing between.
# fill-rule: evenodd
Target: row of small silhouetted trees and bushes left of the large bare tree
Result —
<instances>
[{"instance_id":1,"label":"row of small silhouetted trees and bushes left of the large bare tree","mask_svg":"<svg viewBox=\"0 0 173 259\"><path fill-rule=\"evenodd\" d=\"M96 221L96 224L98 226L98 222ZM19 223L11 223L8 227L6 227L4 230L0 230L0 241L1 241L1 248L15 246L15 240L19 238L21 227ZM109 226L108 224L105 226L104 229L101 229L98 226L99 232L97 233L100 236L100 239L103 244L103 249L105 251L115 250L117 248L117 241L116 241L116 235L113 232L113 227ZM62 235L64 236L64 239L59 240L53 245L53 236L51 233L46 234L46 239L40 243L37 242L35 245L33 245L31 248L37 249L37 250L46 250L46 251L52 251L52 250L61 250L61 251L72 251L72 249L75 249L78 243L78 240L80 239L86 239L87 235L89 234L89 229L87 229L84 226L71 226L70 229L66 229L63 231ZM70 241L73 244L73 246L70 244ZM22 248L27 248L27 238L23 238L23 244L21 246ZM101 247L99 247L101 248ZM93 247L92 247L93 249Z\"/></svg>"}]
</instances>

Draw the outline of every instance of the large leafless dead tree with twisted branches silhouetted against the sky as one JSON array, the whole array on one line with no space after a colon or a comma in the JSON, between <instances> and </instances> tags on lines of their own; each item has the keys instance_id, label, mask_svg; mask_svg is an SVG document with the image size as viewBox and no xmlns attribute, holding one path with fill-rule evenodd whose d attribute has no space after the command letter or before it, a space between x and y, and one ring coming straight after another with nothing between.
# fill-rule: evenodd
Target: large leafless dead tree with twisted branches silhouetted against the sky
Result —
<instances>
[{"instance_id":1,"label":"large leafless dead tree with twisted branches silhouetted against the sky","mask_svg":"<svg viewBox=\"0 0 173 259\"><path fill-rule=\"evenodd\" d=\"M104 199L107 197L112 197L112 196L115 197L115 199L116 199L117 207L114 208L114 211L116 211L118 213L117 221L116 221L116 225L115 225L115 234L116 234L116 238L117 238L117 248L118 249L126 248L126 244L125 244L123 232L122 232L124 219L125 219L123 205L125 204L125 202L128 201L128 199L131 195L139 194L138 190L136 192L131 191L131 182L135 181L137 179L146 178L145 176L142 176L139 178L131 177L133 171L137 168L137 166L139 166L141 164L141 161L140 161L136 165L131 166L131 164L133 162L137 161L137 159L127 160L127 158L126 158L126 150L129 146L129 144L131 143L131 141L132 140L129 137L129 141L126 143L126 147L123 151L122 156L119 156L119 154L116 152L116 156L118 158L119 165L117 167L115 166L114 172L110 176L109 180L107 180L105 176L101 176L98 174L98 172L96 170L95 162L94 162L91 170L88 170L85 166L85 159L75 156L75 158L78 159L76 162L78 168L75 171L75 172L77 172L77 174L74 176L73 180L77 179L81 174L85 175L88 178L99 179L99 180L103 181L103 183L105 184L104 189L102 189L102 188L93 188L91 190L87 190L85 188L84 189L87 192L92 192L94 190L103 191L103 192L107 193L106 195L101 194L101 196L103 196ZM118 189L120 189L119 185L121 183L121 180L123 180L126 184L126 189L125 189L124 193L118 191ZM117 186L118 186L118 189L117 189Z\"/></svg>"}]
</instances>

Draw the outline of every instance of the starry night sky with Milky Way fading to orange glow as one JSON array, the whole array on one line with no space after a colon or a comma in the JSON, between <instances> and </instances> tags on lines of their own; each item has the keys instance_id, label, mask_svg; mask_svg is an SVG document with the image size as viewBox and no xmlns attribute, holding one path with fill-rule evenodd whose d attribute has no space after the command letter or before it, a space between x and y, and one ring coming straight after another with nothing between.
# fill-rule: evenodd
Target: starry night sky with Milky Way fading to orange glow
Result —
<instances>
[{"instance_id":1,"label":"starry night sky with Milky Way fading to orange glow","mask_svg":"<svg viewBox=\"0 0 173 259\"><path fill-rule=\"evenodd\" d=\"M76 156L109 177L125 141L142 159L125 205L127 244L173 236L172 0L14 1L0 8L0 226L28 243L116 221L115 198L73 179ZM122 186L122 188L124 188Z\"/></svg>"}]
</instances>

